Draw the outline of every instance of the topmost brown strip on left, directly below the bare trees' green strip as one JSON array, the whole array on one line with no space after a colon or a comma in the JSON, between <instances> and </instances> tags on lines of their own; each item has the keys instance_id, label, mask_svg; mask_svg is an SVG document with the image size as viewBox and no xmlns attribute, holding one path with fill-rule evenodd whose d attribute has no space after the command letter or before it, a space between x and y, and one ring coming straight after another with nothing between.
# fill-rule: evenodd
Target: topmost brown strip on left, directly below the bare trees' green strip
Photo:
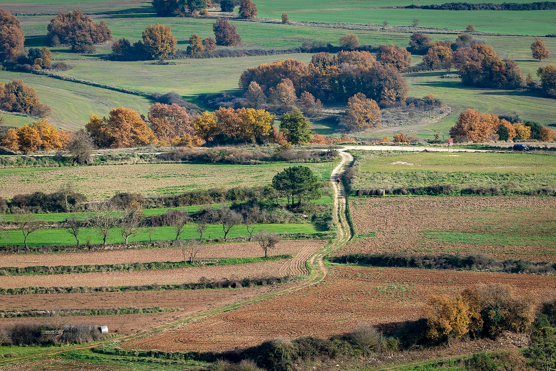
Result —
<instances>
[{"instance_id":1,"label":"topmost brown strip on left, directly below the bare trees' green strip","mask_svg":"<svg viewBox=\"0 0 556 371\"><path fill-rule=\"evenodd\" d=\"M320 241L316 241L320 242ZM307 241L282 241L276 254L297 254ZM246 258L262 256L259 244L255 242L205 245L204 251L196 259ZM84 264L119 264L119 263L150 263L151 261L182 261L180 248L160 249L118 249L101 251L84 251L82 253L49 253L49 254L9 254L0 255L2 266L33 266L33 265L84 265Z\"/></svg>"}]
</instances>

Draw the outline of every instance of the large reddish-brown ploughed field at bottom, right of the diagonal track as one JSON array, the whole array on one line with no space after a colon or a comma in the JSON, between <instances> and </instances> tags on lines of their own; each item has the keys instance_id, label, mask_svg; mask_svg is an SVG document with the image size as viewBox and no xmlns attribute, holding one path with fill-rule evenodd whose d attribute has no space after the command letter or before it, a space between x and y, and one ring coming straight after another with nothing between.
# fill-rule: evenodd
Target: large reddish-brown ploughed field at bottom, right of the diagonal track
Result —
<instances>
[{"instance_id":1,"label":"large reddish-brown ploughed field at bottom, right of the diagonal track","mask_svg":"<svg viewBox=\"0 0 556 371\"><path fill-rule=\"evenodd\" d=\"M214 350L269 338L329 337L359 321L386 324L419 318L433 294L454 294L477 283L512 285L518 294L556 296L553 276L408 268L335 266L329 278L292 294L183 324L126 348Z\"/></svg>"}]
</instances>

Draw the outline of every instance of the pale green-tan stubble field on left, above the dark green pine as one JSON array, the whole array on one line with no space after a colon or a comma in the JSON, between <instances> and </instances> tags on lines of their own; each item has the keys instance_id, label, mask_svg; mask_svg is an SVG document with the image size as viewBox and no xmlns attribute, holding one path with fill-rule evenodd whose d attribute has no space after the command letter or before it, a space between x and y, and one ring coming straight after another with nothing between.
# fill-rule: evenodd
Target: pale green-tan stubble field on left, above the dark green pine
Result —
<instances>
[{"instance_id":1,"label":"pale green-tan stubble field on left, above the dark green pine","mask_svg":"<svg viewBox=\"0 0 556 371\"><path fill-rule=\"evenodd\" d=\"M327 180L335 164L316 162L303 165L310 167L320 180ZM249 187L269 184L277 172L291 165L273 162L261 165L148 164L1 169L0 196L52 192L68 181L75 182L77 190L89 197L112 196L117 191L177 194L220 187Z\"/></svg>"}]
</instances>

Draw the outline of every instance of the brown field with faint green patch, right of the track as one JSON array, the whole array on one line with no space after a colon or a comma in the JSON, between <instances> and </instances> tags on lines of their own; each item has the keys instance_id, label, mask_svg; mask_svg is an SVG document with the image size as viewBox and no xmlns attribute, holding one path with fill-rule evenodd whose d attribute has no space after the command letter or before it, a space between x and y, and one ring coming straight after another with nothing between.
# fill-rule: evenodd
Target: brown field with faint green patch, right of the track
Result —
<instances>
[{"instance_id":1,"label":"brown field with faint green patch, right of the track","mask_svg":"<svg viewBox=\"0 0 556 371\"><path fill-rule=\"evenodd\" d=\"M354 197L347 253L486 253L556 262L556 197ZM469 242L466 242L469 241Z\"/></svg>"}]
</instances>

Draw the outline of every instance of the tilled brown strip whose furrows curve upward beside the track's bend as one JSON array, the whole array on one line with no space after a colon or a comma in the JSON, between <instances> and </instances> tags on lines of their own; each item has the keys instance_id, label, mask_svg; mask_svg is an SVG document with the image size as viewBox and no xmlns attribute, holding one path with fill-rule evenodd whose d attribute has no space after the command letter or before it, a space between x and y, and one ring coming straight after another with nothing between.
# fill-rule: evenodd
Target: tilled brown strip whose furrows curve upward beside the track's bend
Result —
<instances>
[{"instance_id":1,"label":"tilled brown strip whose furrows curve upward beside the track's bend","mask_svg":"<svg viewBox=\"0 0 556 371\"><path fill-rule=\"evenodd\" d=\"M147 284L179 284L198 282L201 277L220 281L225 278L258 276L307 275L305 261L324 246L324 241L301 241L294 258L265 261L262 263L212 265L193 268L176 268L101 273L51 274L1 276L0 287L28 286L126 286Z\"/></svg>"}]
</instances>

